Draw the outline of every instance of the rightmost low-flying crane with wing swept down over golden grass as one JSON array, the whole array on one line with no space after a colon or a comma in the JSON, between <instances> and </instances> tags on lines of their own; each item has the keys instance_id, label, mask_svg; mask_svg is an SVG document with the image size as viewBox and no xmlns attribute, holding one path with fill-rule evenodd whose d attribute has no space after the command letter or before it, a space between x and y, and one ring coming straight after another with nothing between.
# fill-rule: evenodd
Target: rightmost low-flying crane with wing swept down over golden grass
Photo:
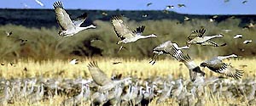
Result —
<instances>
[{"instance_id":1,"label":"rightmost low-flying crane with wing swept down over golden grass","mask_svg":"<svg viewBox=\"0 0 256 106\"><path fill-rule=\"evenodd\" d=\"M243 75L243 70L236 70L230 64L225 64L224 62L222 62L223 59L228 59L231 57L236 58L237 55L231 54L229 56L214 57L210 60L201 63L201 67L207 67L213 72L224 74L235 79L240 79L241 76Z\"/></svg>"}]
</instances>

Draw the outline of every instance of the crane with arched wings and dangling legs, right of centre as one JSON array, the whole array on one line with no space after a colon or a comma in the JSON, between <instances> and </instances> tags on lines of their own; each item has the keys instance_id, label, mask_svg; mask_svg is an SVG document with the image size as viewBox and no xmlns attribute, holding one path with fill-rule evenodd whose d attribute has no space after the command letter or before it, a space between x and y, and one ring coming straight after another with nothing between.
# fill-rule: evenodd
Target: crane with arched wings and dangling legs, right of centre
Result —
<instances>
[{"instance_id":1,"label":"crane with arched wings and dangling legs, right of centre","mask_svg":"<svg viewBox=\"0 0 256 106\"><path fill-rule=\"evenodd\" d=\"M153 50L154 57L151 59L149 63L154 64L157 56L161 54L169 54L172 57L176 58L176 54L172 52L172 49L173 49L172 47L176 47L178 50L189 48L188 46L178 47L177 43L174 43L174 42L172 43L171 41L164 42L160 44L158 47L154 47L154 50ZM178 52L181 52L181 51L178 51Z\"/></svg>"}]
</instances>

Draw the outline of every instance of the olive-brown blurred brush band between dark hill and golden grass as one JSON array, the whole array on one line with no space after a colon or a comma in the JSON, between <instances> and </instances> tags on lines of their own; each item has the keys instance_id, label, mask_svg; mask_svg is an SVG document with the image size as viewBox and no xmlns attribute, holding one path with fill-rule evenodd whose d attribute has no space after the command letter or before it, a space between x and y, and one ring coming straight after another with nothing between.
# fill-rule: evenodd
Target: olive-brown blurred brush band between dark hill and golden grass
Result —
<instances>
[{"instance_id":1,"label":"olive-brown blurred brush band between dark hill and golden grass","mask_svg":"<svg viewBox=\"0 0 256 106\"><path fill-rule=\"evenodd\" d=\"M243 44L245 40L255 39L255 28L241 28L240 20L228 19L220 23L210 22L209 20L192 19L180 23L177 20L146 20L136 22L125 19L131 29L136 29L139 25L146 25L145 34L154 33L157 38L139 40L131 44L125 44L126 50L116 53L119 46L118 40L110 22L95 20L96 29L82 31L72 37L61 37L58 35L58 29L52 28L27 28L20 25L2 25L0 26L0 59L22 59L30 58L37 60L44 59L69 59L73 56L91 57L115 57L115 58L136 58L143 59L152 56L152 50L162 42L172 41L178 45L184 46L187 36L201 27L207 29L206 36L223 34L221 39L215 39L218 43L227 43L225 47L202 47L192 46L187 50L194 59L205 59L216 55L226 55L236 53L245 57L252 57L256 53L255 42ZM224 32L223 30L231 30ZM13 31L12 36L5 36L4 31ZM233 39L236 34L242 34L242 39ZM20 46L20 40L27 40ZM99 39L92 42L92 40Z\"/></svg>"}]
</instances>

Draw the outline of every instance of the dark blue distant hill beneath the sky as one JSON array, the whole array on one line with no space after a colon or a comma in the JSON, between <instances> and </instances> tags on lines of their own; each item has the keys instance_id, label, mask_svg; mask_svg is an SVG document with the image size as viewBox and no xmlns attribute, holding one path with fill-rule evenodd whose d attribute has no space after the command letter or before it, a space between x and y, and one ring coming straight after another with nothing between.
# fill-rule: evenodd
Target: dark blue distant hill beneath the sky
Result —
<instances>
[{"instance_id":1,"label":"dark blue distant hill beneath the sky","mask_svg":"<svg viewBox=\"0 0 256 106\"><path fill-rule=\"evenodd\" d=\"M179 20L183 22L184 16L190 19L210 19L212 15L195 15L195 14L177 14L169 11L168 14L163 11L105 11L105 10L67 10L71 17L75 18L84 12L89 14L85 24L91 24L92 20L109 21L112 15L122 14L130 20ZM102 13L108 14L103 15ZM147 17L143 17L147 14ZM241 25L244 26L250 21L256 21L256 15L219 15L217 22L226 20L231 16L240 19ZM52 27L57 26L55 21L55 12L53 9L0 9L0 25L24 25L27 27Z\"/></svg>"}]
</instances>

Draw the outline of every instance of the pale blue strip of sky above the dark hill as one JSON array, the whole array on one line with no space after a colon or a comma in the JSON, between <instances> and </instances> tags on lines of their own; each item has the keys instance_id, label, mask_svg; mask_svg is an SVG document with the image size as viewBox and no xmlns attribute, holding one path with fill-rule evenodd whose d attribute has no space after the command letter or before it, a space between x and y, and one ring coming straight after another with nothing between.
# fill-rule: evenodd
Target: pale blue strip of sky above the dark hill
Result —
<instances>
[{"instance_id":1,"label":"pale blue strip of sky above the dark hill","mask_svg":"<svg viewBox=\"0 0 256 106\"><path fill-rule=\"evenodd\" d=\"M0 8L49 8L55 0L1 0ZM169 10L181 14L256 14L256 0L60 0L64 8L102 9L102 10L163 10L166 5L173 5ZM226 0L227 1L227 0ZM247 3L242 3L247 1ZM147 6L148 3L152 3ZM177 8L177 4L186 7Z\"/></svg>"}]
</instances>

